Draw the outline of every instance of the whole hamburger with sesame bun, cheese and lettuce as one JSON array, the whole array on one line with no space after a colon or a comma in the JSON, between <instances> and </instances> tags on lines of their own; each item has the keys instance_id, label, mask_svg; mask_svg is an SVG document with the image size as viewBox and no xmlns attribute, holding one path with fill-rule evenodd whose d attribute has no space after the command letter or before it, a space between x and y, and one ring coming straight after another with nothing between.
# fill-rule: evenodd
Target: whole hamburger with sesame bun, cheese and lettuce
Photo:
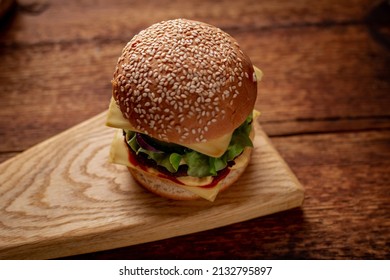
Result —
<instances>
[{"instance_id":1,"label":"whole hamburger with sesame bun, cheese and lettuce","mask_svg":"<svg viewBox=\"0 0 390 280\"><path fill-rule=\"evenodd\" d=\"M213 201L250 161L260 78L217 27L174 19L142 30L112 79L111 162L157 195Z\"/></svg>"}]
</instances>

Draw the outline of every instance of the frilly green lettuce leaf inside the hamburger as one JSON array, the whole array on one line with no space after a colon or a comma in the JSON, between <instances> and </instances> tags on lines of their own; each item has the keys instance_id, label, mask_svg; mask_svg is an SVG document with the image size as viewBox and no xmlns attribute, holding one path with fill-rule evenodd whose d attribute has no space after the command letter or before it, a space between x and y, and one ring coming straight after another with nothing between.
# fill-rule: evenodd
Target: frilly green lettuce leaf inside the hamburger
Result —
<instances>
[{"instance_id":1,"label":"frilly green lettuce leaf inside the hamburger","mask_svg":"<svg viewBox=\"0 0 390 280\"><path fill-rule=\"evenodd\" d=\"M143 153L157 165L165 167L169 172L175 173L182 164L187 165L187 174L193 177L215 176L218 171L227 167L228 163L239 156L245 147L253 147L249 137L251 132L252 114L234 130L232 139L226 152L219 158L210 157L197 151L182 147L180 145L169 144L169 151L163 149L150 151L142 148L136 139L136 134L126 131L126 139L130 148L136 153ZM161 142L160 148L161 148ZM177 146L175 149L174 146ZM173 147L173 148L172 148ZM175 150L177 152L175 152Z\"/></svg>"}]
</instances>

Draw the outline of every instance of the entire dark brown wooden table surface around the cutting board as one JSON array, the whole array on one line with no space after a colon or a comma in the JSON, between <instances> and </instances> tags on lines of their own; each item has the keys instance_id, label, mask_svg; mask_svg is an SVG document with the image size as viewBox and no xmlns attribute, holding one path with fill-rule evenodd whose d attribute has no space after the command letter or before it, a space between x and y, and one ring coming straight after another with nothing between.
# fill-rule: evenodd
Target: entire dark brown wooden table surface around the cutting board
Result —
<instances>
[{"instance_id":1,"label":"entire dark brown wooden table surface around the cutting board","mask_svg":"<svg viewBox=\"0 0 390 280\"><path fill-rule=\"evenodd\" d=\"M1 20L0 162L107 109L124 44L171 18L216 25L264 71L256 108L301 208L70 259L389 259L390 4L19 0Z\"/></svg>"}]
</instances>

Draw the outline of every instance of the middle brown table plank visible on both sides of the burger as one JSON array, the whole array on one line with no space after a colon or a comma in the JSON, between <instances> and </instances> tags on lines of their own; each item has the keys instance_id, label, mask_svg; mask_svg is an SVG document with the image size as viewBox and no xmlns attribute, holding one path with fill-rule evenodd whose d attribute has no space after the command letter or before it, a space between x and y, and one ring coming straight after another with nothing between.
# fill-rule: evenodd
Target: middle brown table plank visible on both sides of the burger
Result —
<instances>
[{"instance_id":1,"label":"middle brown table plank visible on both sides of the burger","mask_svg":"<svg viewBox=\"0 0 390 280\"><path fill-rule=\"evenodd\" d=\"M256 107L269 135L390 126L390 55L365 27L233 35L265 73ZM24 150L106 109L122 47L91 41L3 49L0 151Z\"/></svg>"}]
</instances>

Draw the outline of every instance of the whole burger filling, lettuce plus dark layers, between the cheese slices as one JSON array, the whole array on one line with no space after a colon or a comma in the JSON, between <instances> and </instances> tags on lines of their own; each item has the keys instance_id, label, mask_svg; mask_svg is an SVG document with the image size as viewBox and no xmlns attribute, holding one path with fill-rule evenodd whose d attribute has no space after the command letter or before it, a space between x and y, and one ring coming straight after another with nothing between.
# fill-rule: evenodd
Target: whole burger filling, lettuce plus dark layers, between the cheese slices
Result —
<instances>
[{"instance_id":1,"label":"whole burger filling, lettuce plus dark layers, between the cheese slices","mask_svg":"<svg viewBox=\"0 0 390 280\"><path fill-rule=\"evenodd\" d=\"M218 158L139 132L123 130L123 133L128 147L141 163L174 176L207 177L217 176L226 167L234 164L234 159L245 147L253 147L249 137L252 121L253 115L250 114L244 123L234 130L227 150Z\"/></svg>"}]
</instances>

